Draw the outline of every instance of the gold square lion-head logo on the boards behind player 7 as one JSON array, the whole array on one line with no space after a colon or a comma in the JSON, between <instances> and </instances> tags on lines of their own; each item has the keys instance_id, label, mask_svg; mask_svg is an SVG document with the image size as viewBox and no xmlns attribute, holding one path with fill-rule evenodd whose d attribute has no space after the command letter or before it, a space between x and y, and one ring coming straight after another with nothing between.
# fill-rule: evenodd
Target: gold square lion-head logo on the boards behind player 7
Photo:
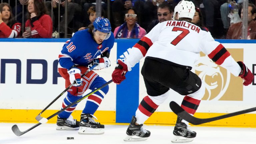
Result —
<instances>
[{"instance_id":1,"label":"gold square lion-head logo on the boards behind player 7","mask_svg":"<svg viewBox=\"0 0 256 144\"><path fill-rule=\"evenodd\" d=\"M243 60L243 49L228 49L228 51L235 61ZM202 100L243 100L242 79L214 63L207 55L200 53L194 69L205 84L205 95Z\"/></svg>"}]
</instances>

